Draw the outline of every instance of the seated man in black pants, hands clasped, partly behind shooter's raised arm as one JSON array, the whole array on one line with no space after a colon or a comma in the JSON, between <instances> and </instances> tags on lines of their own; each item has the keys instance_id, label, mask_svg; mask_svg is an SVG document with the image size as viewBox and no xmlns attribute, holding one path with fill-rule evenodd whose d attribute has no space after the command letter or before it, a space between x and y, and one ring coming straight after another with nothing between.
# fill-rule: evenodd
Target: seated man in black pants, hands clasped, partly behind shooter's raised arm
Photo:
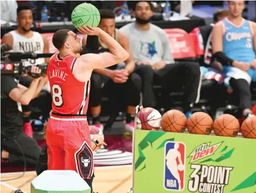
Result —
<instances>
[{"instance_id":1,"label":"seated man in black pants, hands clasped, partly behind shooter's raised arm","mask_svg":"<svg viewBox=\"0 0 256 193\"><path fill-rule=\"evenodd\" d=\"M102 82L108 90L109 99L116 105L121 98L125 98L127 105L125 131L132 133L134 129L133 115L135 107L140 103L141 80L139 75L133 73L135 68L129 40L124 33L115 29L115 16L111 10L101 10L99 26L103 31L115 38L118 43L130 54L125 64L117 64L105 69L94 70L91 74L90 103L93 125L103 130L100 120ZM85 38L83 42L85 43ZM109 52L108 47L99 39L98 53Z\"/></svg>"}]
</instances>

